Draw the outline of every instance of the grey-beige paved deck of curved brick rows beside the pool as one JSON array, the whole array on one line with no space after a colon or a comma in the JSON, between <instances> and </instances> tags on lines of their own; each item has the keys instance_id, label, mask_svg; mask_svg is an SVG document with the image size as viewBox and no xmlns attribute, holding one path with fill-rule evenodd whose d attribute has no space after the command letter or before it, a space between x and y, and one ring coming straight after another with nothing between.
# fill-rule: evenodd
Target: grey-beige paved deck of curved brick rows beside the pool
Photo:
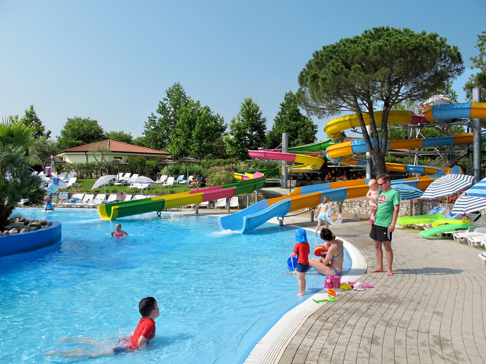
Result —
<instances>
[{"instance_id":1,"label":"grey-beige paved deck of curved brick rows beside the pool","mask_svg":"<svg viewBox=\"0 0 486 364\"><path fill-rule=\"evenodd\" d=\"M369 269L376 266L369 224L332 230L362 252ZM400 230L392 246L395 275L366 273L361 281L375 288L343 292L312 314L279 364L486 362L481 250Z\"/></svg>"}]
</instances>

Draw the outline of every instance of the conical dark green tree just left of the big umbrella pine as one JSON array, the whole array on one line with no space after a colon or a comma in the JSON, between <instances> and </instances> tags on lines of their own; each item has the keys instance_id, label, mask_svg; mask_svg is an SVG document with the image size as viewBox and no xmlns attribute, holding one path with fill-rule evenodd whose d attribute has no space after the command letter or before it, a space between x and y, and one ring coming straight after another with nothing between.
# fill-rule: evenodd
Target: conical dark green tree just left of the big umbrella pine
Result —
<instances>
[{"instance_id":1,"label":"conical dark green tree just left of the big umbrella pine","mask_svg":"<svg viewBox=\"0 0 486 364\"><path fill-rule=\"evenodd\" d=\"M292 91L286 92L280 102L280 110L274 117L274 125L267 134L267 148L275 148L282 142L282 133L289 134L289 147L315 142L317 125L308 116L302 115L297 98Z\"/></svg>"}]
</instances>

